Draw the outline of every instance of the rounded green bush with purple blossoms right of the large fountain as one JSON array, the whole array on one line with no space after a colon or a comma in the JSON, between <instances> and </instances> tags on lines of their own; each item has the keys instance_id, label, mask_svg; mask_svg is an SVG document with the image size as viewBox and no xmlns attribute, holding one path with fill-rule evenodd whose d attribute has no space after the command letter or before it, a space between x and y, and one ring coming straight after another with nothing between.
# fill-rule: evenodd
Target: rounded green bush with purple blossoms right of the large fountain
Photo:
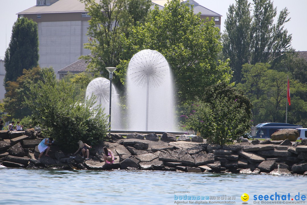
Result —
<instances>
[{"instance_id":1,"label":"rounded green bush with purple blossoms right of the large fountain","mask_svg":"<svg viewBox=\"0 0 307 205\"><path fill-rule=\"evenodd\" d=\"M231 144L250 129L251 103L242 94L225 84L205 89L203 100L192 104L183 116L186 129L192 128L215 144Z\"/></svg>"}]
</instances>

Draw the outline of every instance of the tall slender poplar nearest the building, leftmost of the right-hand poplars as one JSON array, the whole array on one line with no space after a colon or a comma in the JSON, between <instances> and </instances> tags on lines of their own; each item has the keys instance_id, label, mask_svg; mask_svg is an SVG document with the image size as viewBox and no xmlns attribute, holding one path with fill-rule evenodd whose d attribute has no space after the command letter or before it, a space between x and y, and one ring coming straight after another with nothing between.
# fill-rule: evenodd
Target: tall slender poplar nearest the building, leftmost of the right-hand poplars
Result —
<instances>
[{"instance_id":1,"label":"tall slender poplar nearest the building, leftmost of the right-hand poplars","mask_svg":"<svg viewBox=\"0 0 307 205\"><path fill-rule=\"evenodd\" d=\"M234 71L233 81L242 79L242 65L250 58L251 44L251 14L247 0L237 0L228 8L225 20L225 30L222 35L223 54L230 58L230 67Z\"/></svg>"}]
</instances>

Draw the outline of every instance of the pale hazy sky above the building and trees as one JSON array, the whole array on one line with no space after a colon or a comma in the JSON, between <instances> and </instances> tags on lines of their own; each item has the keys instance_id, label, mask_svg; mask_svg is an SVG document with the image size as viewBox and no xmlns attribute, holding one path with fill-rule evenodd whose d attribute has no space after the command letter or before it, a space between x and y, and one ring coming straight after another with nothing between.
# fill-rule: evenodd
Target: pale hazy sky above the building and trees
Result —
<instances>
[{"instance_id":1,"label":"pale hazy sky above the building and trees","mask_svg":"<svg viewBox=\"0 0 307 205\"><path fill-rule=\"evenodd\" d=\"M224 30L224 21L229 5L235 0L196 0L200 5L222 15L221 30ZM2 11L0 12L0 57L4 56L5 50L10 42L12 26L17 19L17 13L30 8L36 4L36 0L0 0ZM279 11L287 7L290 11L290 22L286 23L288 33L292 34L292 46L296 50L307 50L307 18L304 13L307 8L307 0L275 0L274 6Z\"/></svg>"}]
</instances>

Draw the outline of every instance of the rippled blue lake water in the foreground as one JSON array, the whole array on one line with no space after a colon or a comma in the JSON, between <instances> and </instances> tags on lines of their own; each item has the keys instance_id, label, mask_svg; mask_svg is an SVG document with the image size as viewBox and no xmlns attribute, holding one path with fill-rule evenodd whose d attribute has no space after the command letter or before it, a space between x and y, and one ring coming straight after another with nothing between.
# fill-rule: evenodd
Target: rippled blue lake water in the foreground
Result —
<instances>
[{"instance_id":1,"label":"rippled blue lake water in the foreground","mask_svg":"<svg viewBox=\"0 0 307 205\"><path fill-rule=\"evenodd\" d=\"M248 204L254 195L307 195L307 176L181 173L167 171L55 171L0 168L0 204L228 204L225 200L177 200L176 197L232 197L232 204ZM178 193L189 191L189 193ZM175 193L176 192L176 193ZM175 196L176 195L176 196ZM275 197L275 196L274 196ZM262 201L259 201L261 204ZM269 201L266 201L269 202ZM271 201L272 202L272 201ZM275 201L276 202L276 201ZM300 202L306 201L280 201Z\"/></svg>"}]
</instances>

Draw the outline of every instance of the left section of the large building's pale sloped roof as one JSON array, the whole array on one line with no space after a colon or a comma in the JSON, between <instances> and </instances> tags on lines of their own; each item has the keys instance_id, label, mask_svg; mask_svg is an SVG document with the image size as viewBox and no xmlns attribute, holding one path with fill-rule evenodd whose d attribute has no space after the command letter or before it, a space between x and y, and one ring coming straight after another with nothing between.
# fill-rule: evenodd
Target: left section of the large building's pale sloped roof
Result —
<instances>
[{"instance_id":1,"label":"left section of the large building's pale sloped roof","mask_svg":"<svg viewBox=\"0 0 307 205\"><path fill-rule=\"evenodd\" d=\"M99 3L99 0L95 0ZM85 5L79 0L58 0L50 5L32 6L17 14L48 14L48 13L73 13L84 12Z\"/></svg>"}]
</instances>

